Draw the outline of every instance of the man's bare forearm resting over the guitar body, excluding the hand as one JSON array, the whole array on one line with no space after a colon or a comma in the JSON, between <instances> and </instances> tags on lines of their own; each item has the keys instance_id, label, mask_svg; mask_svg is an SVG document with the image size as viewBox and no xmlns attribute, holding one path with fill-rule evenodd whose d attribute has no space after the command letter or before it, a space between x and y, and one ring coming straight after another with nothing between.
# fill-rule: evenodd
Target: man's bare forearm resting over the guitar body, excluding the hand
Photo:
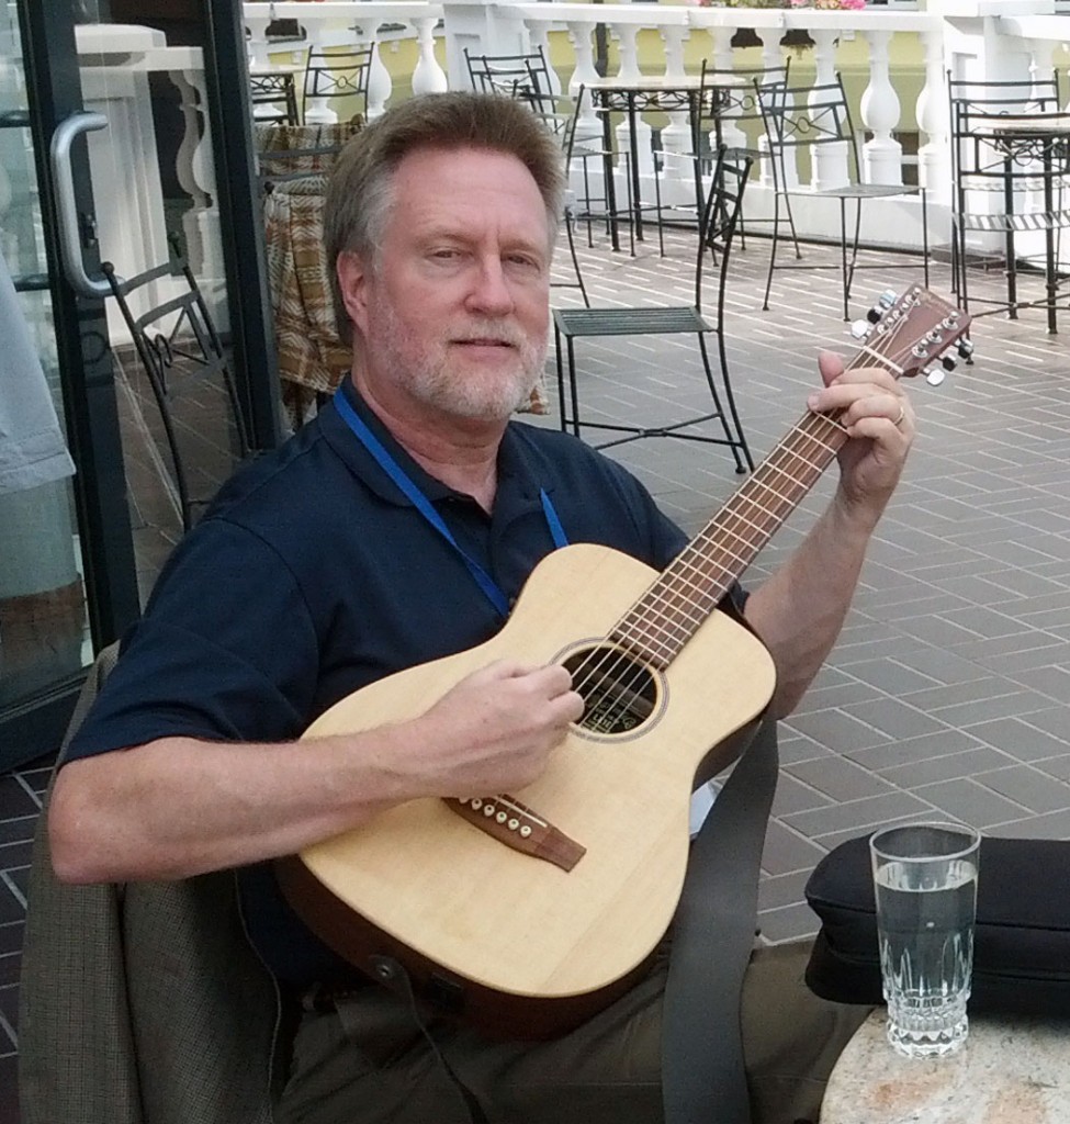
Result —
<instances>
[{"instance_id":1,"label":"man's bare forearm resting over the guitar body, excluding the hand","mask_svg":"<svg viewBox=\"0 0 1070 1124\"><path fill-rule=\"evenodd\" d=\"M397 736L405 736L400 727ZM378 760L388 750L363 740L167 737L72 761L49 809L53 865L71 882L132 881L298 851L399 798L401 786Z\"/></svg>"}]
</instances>

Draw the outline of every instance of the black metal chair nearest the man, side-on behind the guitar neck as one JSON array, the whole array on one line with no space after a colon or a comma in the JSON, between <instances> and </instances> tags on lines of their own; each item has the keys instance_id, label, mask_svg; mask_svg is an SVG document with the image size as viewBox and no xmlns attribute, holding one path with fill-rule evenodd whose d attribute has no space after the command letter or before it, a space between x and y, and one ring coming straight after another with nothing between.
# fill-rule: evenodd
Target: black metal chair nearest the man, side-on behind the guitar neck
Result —
<instances>
[{"instance_id":1,"label":"black metal chair nearest the man, side-on behind the guitar neck","mask_svg":"<svg viewBox=\"0 0 1070 1124\"><path fill-rule=\"evenodd\" d=\"M709 193L702 211L698 250L695 262L695 303L650 308L580 308L556 309L554 311L554 334L557 352L557 391L561 409L561 428L580 436L584 427L606 429L625 436L615 437L600 448L637 441L643 437L678 437L714 445L726 445L735 459L736 472L754 468L743 426L736 410L732 382L728 377L727 354L724 335L725 290L728 279L732 242L740 217L743 191L751 171L750 157L735 162L729 160L724 148L717 154L717 162L710 181ZM716 315L710 319L702 309L702 278L710 259L717 268ZM575 366L575 341L584 337L638 336L638 335L695 335L698 338L706 381L713 398L709 413L667 425L618 424L610 422L584 422L580 417L580 404ZM722 390L710 365L706 336L717 337L720 363ZM562 341L564 342L562 344ZM568 357L568 391L565 389L564 357ZM724 398L722 399L722 395ZM696 433L693 428L707 422L719 423L723 435L710 436Z\"/></svg>"}]
</instances>

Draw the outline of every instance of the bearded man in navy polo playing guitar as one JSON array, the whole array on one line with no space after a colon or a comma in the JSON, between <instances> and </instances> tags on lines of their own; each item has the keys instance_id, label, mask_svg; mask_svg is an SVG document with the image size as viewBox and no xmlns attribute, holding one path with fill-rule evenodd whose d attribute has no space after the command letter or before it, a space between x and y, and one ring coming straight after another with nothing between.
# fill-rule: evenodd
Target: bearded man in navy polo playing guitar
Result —
<instances>
[{"instance_id":1,"label":"bearded man in navy polo playing guitar","mask_svg":"<svg viewBox=\"0 0 1070 1124\"><path fill-rule=\"evenodd\" d=\"M251 936L306 1007L280 1121L468 1117L406 1004L311 939L265 861L415 797L523 789L582 700L562 668L498 662L415 719L294 738L361 686L497 632L562 534L659 569L684 544L618 465L510 423L543 369L561 190L554 142L502 99L414 99L351 144L325 241L352 384L241 472L175 552L57 778L49 828L65 880L243 868ZM913 433L886 372L844 373L832 356L820 369L809 406L843 410L851 437L838 490L776 577L734 593L776 662L780 715L841 627ZM767 950L749 972L762 1124L816 1117L856 1023L806 992L800 964L797 949ZM430 1033L492 1120L646 1124L661 1118L663 982L660 964L552 1042Z\"/></svg>"}]
</instances>

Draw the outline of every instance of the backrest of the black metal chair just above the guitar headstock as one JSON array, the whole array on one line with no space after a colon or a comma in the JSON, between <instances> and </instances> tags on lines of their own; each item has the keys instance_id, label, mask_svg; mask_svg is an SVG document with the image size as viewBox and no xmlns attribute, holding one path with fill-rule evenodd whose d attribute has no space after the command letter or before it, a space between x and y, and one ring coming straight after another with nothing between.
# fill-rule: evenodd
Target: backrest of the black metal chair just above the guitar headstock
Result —
<instances>
[{"instance_id":1,"label":"backrest of the black metal chair just above the guitar headstock","mask_svg":"<svg viewBox=\"0 0 1070 1124\"><path fill-rule=\"evenodd\" d=\"M756 85L765 137L772 156L773 181L783 191L794 179L800 154L815 156L832 145L847 158L847 176L859 182L859 151L843 79L819 85L773 82Z\"/></svg>"}]
</instances>

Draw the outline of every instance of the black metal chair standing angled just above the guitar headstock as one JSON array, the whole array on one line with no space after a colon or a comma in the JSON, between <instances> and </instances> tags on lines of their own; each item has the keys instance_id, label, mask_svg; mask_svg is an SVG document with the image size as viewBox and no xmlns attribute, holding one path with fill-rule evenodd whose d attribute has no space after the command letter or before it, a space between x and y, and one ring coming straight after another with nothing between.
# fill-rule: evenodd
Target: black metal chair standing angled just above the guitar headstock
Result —
<instances>
[{"instance_id":1,"label":"black metal chair standing angled just above the guitar headstock","mask_svg":"<svg viewBox=\"0 0 1070 1124\"><path fill-rule=\"evenodd\" d=\"M785 264L777 262L780 242L781 211L789 208L791 196L809 199L832 199L840 208L840 257L843 273L843 318L850 319L847 303L851 283L859 265L859 235L862 229L862 203L867 199L889 199L896 196L919 196L922 201L922 242L925 284L928 284L928 215L925 189L903 183L861 182L858 138L851 124L851 112L843 89L843 80L837 74L834 82L820 85L771 85L759 87L759 105L765 123L765 136L772 157L773 170L773 226L772 248L769 255L769 275L765 280L765 296L762 308L769 309L769 293L773 282L773 271L827 269L823 264ZM845 155L846 182L827 188L800 185L797 180L797 160L805 152L820 164L838 154ZM847 203L854 203L854 234L847 235ZM792 224L794 232L794 224ZM796 242L798 253L798 242ZM867 264L867 269L880 269L879 263ZM888 268L888 266L883 266Z\"/></svg>"}]
</instances>

